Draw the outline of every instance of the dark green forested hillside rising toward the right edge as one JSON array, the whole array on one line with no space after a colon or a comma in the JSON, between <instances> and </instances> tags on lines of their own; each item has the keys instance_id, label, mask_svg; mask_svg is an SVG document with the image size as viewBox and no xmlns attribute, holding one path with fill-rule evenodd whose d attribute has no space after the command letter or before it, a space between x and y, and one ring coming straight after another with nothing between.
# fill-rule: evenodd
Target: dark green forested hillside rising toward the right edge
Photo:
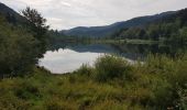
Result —
<instances>
[{"instance_id":1,"label":"dark green forested hillside rising toward the right edge","mask_svg":"<svg viewBox=\"0 0 187 110\"><path fill-rule=\"evenodd\" d=\"M187 42L187 9L142 28L125 28L111 35L112 38L139 38L154 41Z\"/></svg>"}]
</instances>

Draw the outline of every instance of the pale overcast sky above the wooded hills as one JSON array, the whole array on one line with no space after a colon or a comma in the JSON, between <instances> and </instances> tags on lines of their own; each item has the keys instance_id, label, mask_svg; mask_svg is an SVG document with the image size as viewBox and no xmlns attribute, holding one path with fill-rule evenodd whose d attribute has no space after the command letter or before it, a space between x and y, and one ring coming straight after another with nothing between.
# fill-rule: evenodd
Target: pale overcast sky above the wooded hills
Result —
<instances>
[{"instance_id":1,"label":"pale overcast sky above the wooded hills","mask_svg":"<svg viewBox=\"0 0 187 110\"><path fill-rule=\"evenodd\" d=\"M187 0L0 0L15 11L36 9L51 29L108 25L187 8Z\"/></svg>"}]
</instances>

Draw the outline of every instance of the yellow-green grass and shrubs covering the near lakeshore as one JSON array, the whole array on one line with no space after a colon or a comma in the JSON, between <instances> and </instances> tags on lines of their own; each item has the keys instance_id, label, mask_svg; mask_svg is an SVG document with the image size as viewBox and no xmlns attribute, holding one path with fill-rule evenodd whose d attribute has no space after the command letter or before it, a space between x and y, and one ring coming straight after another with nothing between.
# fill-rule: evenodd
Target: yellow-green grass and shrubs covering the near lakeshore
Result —
<instances>
[{"instance_id":1,"label":"yellow-green grass and shrubs covering the near lakeshore","mask_svg":"<svg viewBox=\"0 0 187 110\"><path fill-rule=\"evenodd\" d=\"M67 75L35 68L0 80L2 110L187 109L187 57L150 56L129 64L107 55Z\"/></svg>"}]
</instances>

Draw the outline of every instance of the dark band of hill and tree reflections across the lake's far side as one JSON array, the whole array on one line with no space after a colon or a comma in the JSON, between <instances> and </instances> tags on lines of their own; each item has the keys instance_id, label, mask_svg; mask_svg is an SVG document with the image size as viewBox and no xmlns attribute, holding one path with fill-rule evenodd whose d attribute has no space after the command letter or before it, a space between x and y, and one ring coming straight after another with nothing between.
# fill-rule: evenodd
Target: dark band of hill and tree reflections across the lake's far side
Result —
<instances>
[{"instance_id":1,"label":"dark band of hill and tree reflections across the lake's far side","mask_svg":"<svg viewBox=\"0 0 187 110\"><path fill-rule=\"evenodd\" d=\"M175 56L177 54L183 55L187 50L187 45L56 43L48 47L50 51L58 51L59 48L70 48L76 52L116 53L135 59L138 57L145 57L147 54L166 54L169 56Z\"/></svg>"}]
</instances>

